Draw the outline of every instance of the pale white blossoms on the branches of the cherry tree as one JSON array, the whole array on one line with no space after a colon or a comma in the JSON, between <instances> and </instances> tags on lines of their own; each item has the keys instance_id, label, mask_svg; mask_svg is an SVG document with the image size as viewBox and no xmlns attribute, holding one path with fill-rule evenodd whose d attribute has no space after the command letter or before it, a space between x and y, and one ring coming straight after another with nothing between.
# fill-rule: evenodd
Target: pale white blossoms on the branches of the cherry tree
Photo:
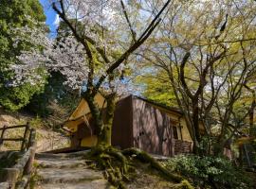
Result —
<instances>
[{"instance_id":1,"label":"pale white blossoms on the branches of the cherry tree","mask_svg":"<svg viewBox=\"0 0 256 189\"><path fill-rule=\"evenodd\" d=\"M57 0L56 6L63 12ZM131 6L128 4L126 6L129 13ZM66 19L76 21L72 25L74 24L76 28L79 28L78 32L81 32L82 36L88 37L94 42L93 48L100 47L103 49L108 60L110 60L110 62L106 63L101 56L97 56L98 62L93 73L93 82L96 83L101 76L106 74L106 70L111 63L117 60L132 42L131 30L123 16L120 1L64 0L64 12ZM136 14L137 17L138 14ZM148 24L146 17L148 17L148 21L151 20L151 15L144 14L142 25L136 25L136 22L134 22L137 20L136 17L131 20L139 28L137 29L137 36L139 36L140 32L143 32L143 26ZM62 22L60 18L57 20L58 23ZM79 27L80 25L82 27ZM66 36L66 33L62 35L62 31L59 31L58 38L49 38L43 27L31 29L24 26L14 28L12 32L20 34L18 38L13 39L16 45L21 41L25 41L38 47L27 49L17 57L20 63L11 67L15 73L12 85L17 86L26 82L31 84L42 83L43 77L50 75L52 71L58 71L66 78L65 85L72 89L84 89L84 85L88 80L89 62L82 43L78 42L75 37ZM115 72L121 73L126 66L121 64ZM43 74L42 70L44 70ZM108 77L106 77L101 87L105 91L113 90L112 86L115 86L115 90L121 94L121 91L129 91L128 89L131 88L128 87L129 82L127 80L120 80L119 77L116 77L109 83L107 79Z\"/></svg>"}]
</instances>

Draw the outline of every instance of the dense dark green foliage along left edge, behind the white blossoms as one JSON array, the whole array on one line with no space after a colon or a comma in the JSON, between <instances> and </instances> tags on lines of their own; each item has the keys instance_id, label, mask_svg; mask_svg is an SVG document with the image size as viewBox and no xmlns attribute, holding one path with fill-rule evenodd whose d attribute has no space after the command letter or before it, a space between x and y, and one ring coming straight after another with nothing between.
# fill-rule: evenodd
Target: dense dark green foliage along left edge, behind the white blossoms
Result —
<instances>
[{"instance_id":1,"label":"dense dark green foliage along left edge, behind the white blossoms","mask_svg":"<svg viewBox=\"0 0 256 189\"><path fill-rule=\"evenodd\" d=\"M44 22L46 16L38 0L1 0L0 1L0 104L9 111L17 111L27 105L33 94L42 92L43 85L24 84L10 87L9 81L13 73L9 66L19 63L16 56L22 50L33 47L32 44L21 42L14 44L12 28L18 26L34 27L31 21ZM42 75L41 72L39 72Z\"/></svg>"}]
</instances>

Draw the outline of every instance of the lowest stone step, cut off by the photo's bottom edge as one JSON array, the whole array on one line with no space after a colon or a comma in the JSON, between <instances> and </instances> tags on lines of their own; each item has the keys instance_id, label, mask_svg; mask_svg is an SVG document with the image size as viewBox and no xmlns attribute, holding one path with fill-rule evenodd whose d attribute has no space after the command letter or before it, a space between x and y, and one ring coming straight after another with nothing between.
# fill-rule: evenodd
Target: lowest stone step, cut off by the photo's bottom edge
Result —
<instances>
[{"instance_id":1,"label":"lowest stone step, cut off by the photo's bottom edge","mask_svg":"<svg viewBox=\"0 0 256 189\"><path fill-rule=\"evenodd\" d=\"M43 184L36 186L35 189L109 189L110 184L107 180L82 181L76 184L72 183L55 183Z\"/></svg>"}]
</instances>

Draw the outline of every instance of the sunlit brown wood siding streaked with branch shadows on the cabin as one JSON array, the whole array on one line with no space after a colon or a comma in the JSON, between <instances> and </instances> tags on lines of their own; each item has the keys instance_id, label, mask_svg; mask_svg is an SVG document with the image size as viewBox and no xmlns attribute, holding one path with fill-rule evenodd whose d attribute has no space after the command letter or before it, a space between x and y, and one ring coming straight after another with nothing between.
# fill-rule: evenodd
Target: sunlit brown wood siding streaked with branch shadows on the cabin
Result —
<instances>
[{"instance_id":1,"label":"sunlit brown wood siding streaked with branch shadows on the cabin","mask_svg":"<svg viewBox=\"0 0 256 189\"><path fill-rule=\"evenodd\" d=\"M171 119L137 97L133 97L133 142L134 146L147 152L174 155Z\"/></svg>"}]
</instances>

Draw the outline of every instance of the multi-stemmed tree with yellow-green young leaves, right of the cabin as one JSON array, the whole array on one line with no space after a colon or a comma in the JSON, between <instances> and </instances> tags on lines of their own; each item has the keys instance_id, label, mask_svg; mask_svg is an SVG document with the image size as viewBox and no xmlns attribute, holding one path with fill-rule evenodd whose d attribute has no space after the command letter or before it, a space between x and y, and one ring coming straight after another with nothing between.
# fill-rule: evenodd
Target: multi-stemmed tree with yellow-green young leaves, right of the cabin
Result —
<instances>
[{"instance_id":1,"label":"multi-stemmed tree with yellow-green young leaves, right of the cabin","mask_svg":"<svg viewBox=\"0 0 256 189\"><path fill-rule=\"evenodd\" d=\"M170 9L152 39L155 45L141 57L169 76L195 151L200 149L203 134L199 123L205 126L204 135L210 135L210 129L220 123L215 143L218 153L229 140L234 104L255 74L255 4L174 2Z\"/></svg>"}]
</instances>

